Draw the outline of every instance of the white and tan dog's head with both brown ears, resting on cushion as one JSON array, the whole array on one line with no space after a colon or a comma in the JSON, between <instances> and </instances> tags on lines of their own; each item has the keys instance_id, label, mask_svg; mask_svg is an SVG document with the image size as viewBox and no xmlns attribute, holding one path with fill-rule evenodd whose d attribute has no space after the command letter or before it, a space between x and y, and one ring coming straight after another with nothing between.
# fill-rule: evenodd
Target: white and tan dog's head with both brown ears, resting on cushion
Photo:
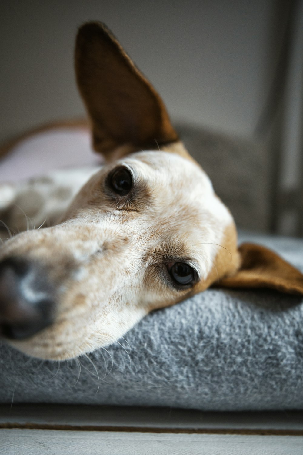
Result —
<instances>
[{"instance_id":1,"label":"white and tan dog's head with both brown ears, resting on cushion","mask_svg":"<svg viewBox=\"0 0 303 455\"><path fill-rule=\"evenodd\" d=\"M75 72L107 164L51 179L54 189L71 176L73 190L55 213L40 204L49 227L26 229L12 215L17 190L0 194L2 223L25 231L0 248L2 337L31 356L71 359L211 285L303 294L302 273L275 253L237 247L231 213L104 24L80 27Z\"/></svg>"}]
</instances>

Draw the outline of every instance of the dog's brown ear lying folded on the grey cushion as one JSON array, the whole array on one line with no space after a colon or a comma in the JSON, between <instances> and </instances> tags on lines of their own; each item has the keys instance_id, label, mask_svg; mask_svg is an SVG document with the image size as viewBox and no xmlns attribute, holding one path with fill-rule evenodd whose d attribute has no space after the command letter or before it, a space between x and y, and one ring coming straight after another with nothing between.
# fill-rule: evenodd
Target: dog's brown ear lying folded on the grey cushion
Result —
<instances>
[{"instance_id":1,"label":"dog's brown ear lying folded on the grey cushion","mask_svg":"<svg viewBox=\"0 0 303 455\"><path fill-rule=\"evenodd\" d=\"M238 272L223 278L218 286L228 288L273 288L284 293L303 294L303 274L268 248L243 243L239 247Z\"/></svg>"}]
</instances>

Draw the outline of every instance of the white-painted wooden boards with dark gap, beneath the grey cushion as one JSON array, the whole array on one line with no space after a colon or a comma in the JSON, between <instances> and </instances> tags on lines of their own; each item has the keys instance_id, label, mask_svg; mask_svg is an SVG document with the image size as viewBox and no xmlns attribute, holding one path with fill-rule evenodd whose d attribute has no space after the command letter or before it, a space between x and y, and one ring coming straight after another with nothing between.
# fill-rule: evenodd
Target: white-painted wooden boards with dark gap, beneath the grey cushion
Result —
<instances>
[{"instance_id":1,"label":"white-painted wooden boards with dark gap, beneath the grey cushion","mask_svg":"<svg viewBox=\"0 0 303 455\"><path fill-rule=\"evenodd\" d=\"M302 455L303 412L0 406L5 455Z\"/></svg>"}]
</instances>

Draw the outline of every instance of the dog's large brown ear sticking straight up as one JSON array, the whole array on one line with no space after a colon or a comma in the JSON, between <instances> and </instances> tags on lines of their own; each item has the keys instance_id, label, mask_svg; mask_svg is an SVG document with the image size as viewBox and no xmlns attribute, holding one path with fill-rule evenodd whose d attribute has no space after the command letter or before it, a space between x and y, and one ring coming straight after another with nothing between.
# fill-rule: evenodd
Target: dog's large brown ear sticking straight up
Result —
<instances>
[{"instance_id":1,"label":"dog's large brown ear sticking straight up","mask_svg":"<svg viewBox=\"0 0 303 455\"><path fill-rule=\"evenodd\" d=\"M160 96L104 24L80 27L75 70L96 151L110 159L119 147L125 154L178 140Z\"/></svg>"}]
</instances>

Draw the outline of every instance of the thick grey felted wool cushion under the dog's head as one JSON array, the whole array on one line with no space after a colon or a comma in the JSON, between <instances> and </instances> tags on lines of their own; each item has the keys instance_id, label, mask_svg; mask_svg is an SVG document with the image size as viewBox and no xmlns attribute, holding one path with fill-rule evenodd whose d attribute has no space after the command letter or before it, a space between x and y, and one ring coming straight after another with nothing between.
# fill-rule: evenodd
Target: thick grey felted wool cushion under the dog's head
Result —
<instances>
[{"instance_id":1,"label":"thick grey felted wool cushion under the dog's head","mask_svg":"<svg viewBox=\"0 0 303 455\"><path fill-rule=\"evenodd\" d=\"M303 240L241 237L303 270ZM0 372L2 403L303 409L303 298L209 289L76 360L41 361L3 342Z\"/></svg>"}]
</instances>

